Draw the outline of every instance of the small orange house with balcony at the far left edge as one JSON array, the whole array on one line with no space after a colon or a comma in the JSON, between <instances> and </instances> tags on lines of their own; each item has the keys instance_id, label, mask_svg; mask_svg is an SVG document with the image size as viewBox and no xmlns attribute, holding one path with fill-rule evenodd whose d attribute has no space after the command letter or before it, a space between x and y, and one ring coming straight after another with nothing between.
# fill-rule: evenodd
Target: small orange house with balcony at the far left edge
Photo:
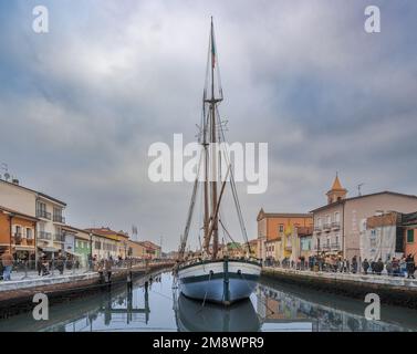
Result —
<instances>
[{"instance_id":1,"label":"small orange house with balcony at the far left edge","mask_svg":"<svg viewBox=\"0 0 417 354\"><path fill-rule=\"evenodd\" d=\"M39 219L0 207L0 254L11 251L15 260L35 260L35 232Z\"/></svg>"}]
</instances>

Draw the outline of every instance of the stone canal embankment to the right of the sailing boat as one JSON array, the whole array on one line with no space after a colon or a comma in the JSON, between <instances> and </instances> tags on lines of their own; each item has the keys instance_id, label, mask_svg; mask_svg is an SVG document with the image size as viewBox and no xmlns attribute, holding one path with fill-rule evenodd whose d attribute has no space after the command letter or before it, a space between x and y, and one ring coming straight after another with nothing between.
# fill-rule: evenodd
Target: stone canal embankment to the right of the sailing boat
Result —
<instances>
[{"instance_id":1,"label":"stone canal embankment to the right of the sailing boat","mask_svg":"<svg viewBox=\"0 0 417 354\"><path fill-rule=\"evenodd\" d=\"M380 302L417 309L417 280L388 277L329 272L311 272L264 267L262 275L278 282L365 299L368 293L379 295Z\"/></svg>"}]
</instances>

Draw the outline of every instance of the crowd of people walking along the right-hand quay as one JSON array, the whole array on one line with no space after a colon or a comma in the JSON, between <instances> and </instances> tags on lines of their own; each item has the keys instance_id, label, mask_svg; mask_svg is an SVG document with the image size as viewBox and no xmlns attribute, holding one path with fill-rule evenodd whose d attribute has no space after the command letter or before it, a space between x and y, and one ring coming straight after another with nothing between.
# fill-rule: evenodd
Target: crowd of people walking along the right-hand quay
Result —
<instances>
[{"instance_id":1,"label":"crowd of people walking along the right-hand quay","mask_svg":"<svg viewBox=\"0 0 417 354\"><path fill-rule=\"evenodd\" d=\"M311 256L309 258L300 257L296 261L289 258L281 262L271 258L265 260L265 266L292 268L298 270L327 271L341 273L364 273L380 275L386 273L392 277L407 277L415 279L416 264L414 254L407 254L402 258L395 258L383 262L382 258L377 260L364 259L361 263L356 256L352 260L340 256Z\"/></svg>"}]
</instances>

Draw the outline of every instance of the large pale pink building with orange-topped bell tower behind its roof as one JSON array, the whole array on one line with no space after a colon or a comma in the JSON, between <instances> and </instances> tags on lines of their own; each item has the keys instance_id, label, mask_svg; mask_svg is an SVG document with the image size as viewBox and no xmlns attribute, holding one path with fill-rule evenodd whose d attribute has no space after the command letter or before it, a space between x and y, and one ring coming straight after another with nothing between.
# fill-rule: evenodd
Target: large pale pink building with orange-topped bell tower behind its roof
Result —
<instances>
[{"instance_id":1,"label":"large pale pink building with orange-topped bell tower behind its roof","mask_svg":"<svg viewBox=\"0 0 417 354\"><path fill-rule=\"evenodd\" d=\"M417 210L417 197L379 191L347 197L338 176L326 192L327 204L311 212L314 219L313 248L316 254L337 254L346 259L361 257L361 240L366 219L379 214Z\"/></svg>"}]
</instances>

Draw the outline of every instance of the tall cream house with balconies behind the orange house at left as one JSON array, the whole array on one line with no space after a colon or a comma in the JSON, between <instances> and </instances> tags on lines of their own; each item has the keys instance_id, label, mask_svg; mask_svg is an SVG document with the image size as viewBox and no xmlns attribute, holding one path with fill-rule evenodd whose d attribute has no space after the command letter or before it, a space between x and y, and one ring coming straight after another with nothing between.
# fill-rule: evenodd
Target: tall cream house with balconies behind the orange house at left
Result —
<instances>
[{"instance_id":1,"label":"tall cream house with balconies behind the orange house at left","mask_svg":"<svg viewBox=\"0 0 417 354\"><path fill-rule=\"evenodd\" d=\"M37 227L33 229L35 254L43 253L51 258L64 250L65 239L62 231L65 226L64 201L23 187L18 180L9 183L0 179L0 205L4 208L37 218Z\"/></svg>"}]
</instances>

